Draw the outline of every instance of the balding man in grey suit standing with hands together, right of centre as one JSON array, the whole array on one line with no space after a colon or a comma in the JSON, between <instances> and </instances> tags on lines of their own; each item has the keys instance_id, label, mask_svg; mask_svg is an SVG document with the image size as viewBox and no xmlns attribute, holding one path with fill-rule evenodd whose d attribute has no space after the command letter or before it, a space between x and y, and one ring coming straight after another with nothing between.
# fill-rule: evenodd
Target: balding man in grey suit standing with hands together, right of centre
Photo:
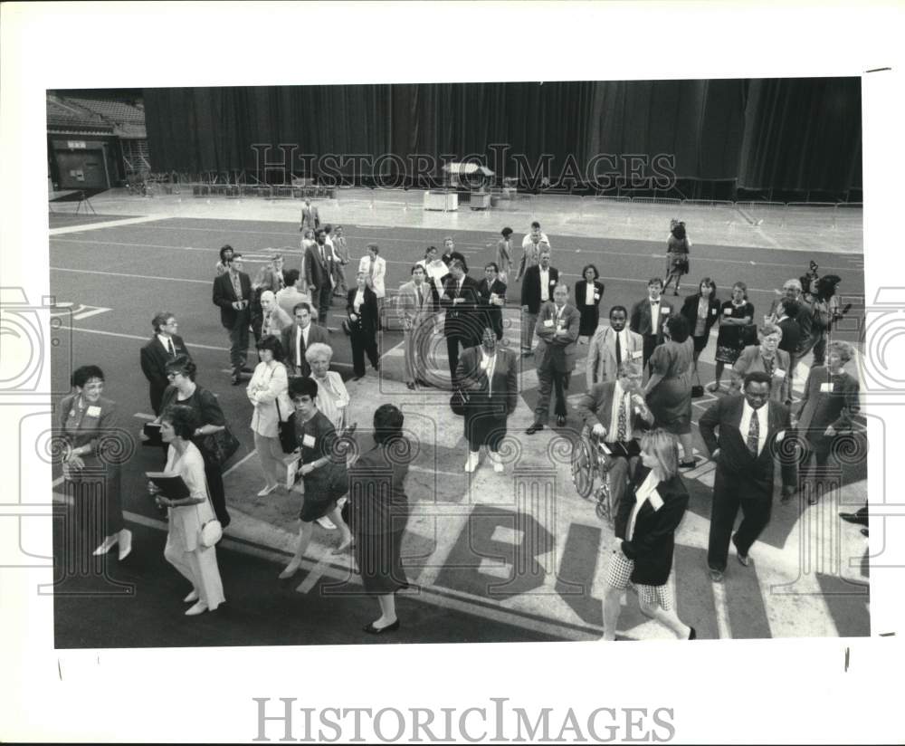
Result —
<instances>
[{"instance_id":1,"label":"balding man in grey suit standing with hands together, right of centre","mask_svg":"<svg viewBox=\"0 0 905 746\"><path fill-rule=\"evenodd\" d=\"M566 425L566 392L575 370L576 341L581 314L569 305L568 285L557 283L553 302L544 303L538 312L538 403L534 423L525 432L534 435L543 430L550 416L550 394L557 392L557 426Z\"/></svg>"}]
</instances>

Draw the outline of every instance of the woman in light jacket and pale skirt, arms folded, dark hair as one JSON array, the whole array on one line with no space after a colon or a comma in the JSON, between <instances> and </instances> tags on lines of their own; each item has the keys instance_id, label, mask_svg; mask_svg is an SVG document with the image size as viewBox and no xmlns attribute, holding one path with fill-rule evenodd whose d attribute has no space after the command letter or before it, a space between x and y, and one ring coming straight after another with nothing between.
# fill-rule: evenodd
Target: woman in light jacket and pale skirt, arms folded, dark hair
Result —
<instances>
[{"instance_id":1,"label":"woman in light jacket and pale skirt, arms folded, dark hair","mask_svg":"<svg viewBox=\"0 0 905 746\"><path fill-rule=\"evenodd\" d=\"M278 423L293 411L287 391L289 376L283 365L283 349L276 337L262 337L256 345L261 362L254 368L246 393L254 406L252 432L254 448L261 459L264 486L258 497L272 493L283 481L286 466L280 445Z\"/></svg>"}]
</instances>

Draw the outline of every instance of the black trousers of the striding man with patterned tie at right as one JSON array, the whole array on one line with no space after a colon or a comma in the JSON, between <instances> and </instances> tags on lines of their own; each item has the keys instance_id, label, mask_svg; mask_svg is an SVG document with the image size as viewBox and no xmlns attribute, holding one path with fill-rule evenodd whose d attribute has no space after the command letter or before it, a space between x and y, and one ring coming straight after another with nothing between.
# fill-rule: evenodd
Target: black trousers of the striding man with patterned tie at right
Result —
<instances>
[{"instance_id":1,"label":"black trousers of the striding man with patterned tie at right","mask_svg":"<svg viewBox=\"0 0 905 746\"><path fill-rule=\"evenodd\" d=\"M719 479L719 475L718 475ZM734 479L726 479L725 483L713 491L713 509L710 512L710 540L707 548L707 564L710 569L726 569L729 557L729 539L733 539L740 554L748 554L751 545L760 536L761 531L770 522L770 511L773 507L772 486L769 493L740 498L738 485ZM738 509L741 509L742 521L735 537L732 528L735 525Z\"/></svg>"}]
</instances>

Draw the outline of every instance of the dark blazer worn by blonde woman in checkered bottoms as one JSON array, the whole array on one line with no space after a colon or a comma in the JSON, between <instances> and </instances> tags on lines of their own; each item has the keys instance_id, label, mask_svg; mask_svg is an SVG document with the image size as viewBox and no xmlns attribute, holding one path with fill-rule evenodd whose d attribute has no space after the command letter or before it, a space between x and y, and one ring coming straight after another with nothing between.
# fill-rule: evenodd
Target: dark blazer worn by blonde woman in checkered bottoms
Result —
<instances>
[{"instance_id":1,"label":"dark blazer worn by blonde woman in checkered bottoms","mask_svg":"<svg viewBox=\"0 0 905 746\"><path fill-rule=\"evenodd\" d=\"M634 507L634 493L644 483L650 469L638 464L630 485L632 499L628 495L619 502L619 512L615 519L617 539L622 539L622 550L628 559L634 561L632 582L645 586L662 586L672 570L672 550L675 547L675 532L688 507L688 490L681 476L676 474L667 482L657 486L663 504L654 511L651 501L645 501L634 522L631 541L625 540L628 520Z\"/></svg>"}]
</instances>

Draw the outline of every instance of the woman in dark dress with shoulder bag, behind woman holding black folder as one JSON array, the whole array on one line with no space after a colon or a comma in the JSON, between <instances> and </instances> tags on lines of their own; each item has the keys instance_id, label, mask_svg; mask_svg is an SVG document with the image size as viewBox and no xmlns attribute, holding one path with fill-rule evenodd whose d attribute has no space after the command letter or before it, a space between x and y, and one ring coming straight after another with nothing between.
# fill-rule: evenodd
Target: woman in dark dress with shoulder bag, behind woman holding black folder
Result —
<instances>
[{"instance_id":1,"label":"woman in dark dress with shoulder bag, behind woman holding black folder","mask_svg":"<svg viewBox=\"0 0 905 746\"><path fill-rule=\"evenodd\" d=\"M167 406L181 404L190 407L195 412L201 425L195 429L192 443L195 444L205 460L207 491L210 493L217 521L220 521L220 525L225 529L232 519L226 510L222 467L217 464L214 454L205 447L208 435L214 435L226 428L223 409L220 408L217 397L211 391L195 383L197 368L191 359L180 355L167 362L165 369L170 386L164 391L160 411L163 412ZM160 417L157 417L156 422L160 422Z\"/></svg>"}]
</instances>

